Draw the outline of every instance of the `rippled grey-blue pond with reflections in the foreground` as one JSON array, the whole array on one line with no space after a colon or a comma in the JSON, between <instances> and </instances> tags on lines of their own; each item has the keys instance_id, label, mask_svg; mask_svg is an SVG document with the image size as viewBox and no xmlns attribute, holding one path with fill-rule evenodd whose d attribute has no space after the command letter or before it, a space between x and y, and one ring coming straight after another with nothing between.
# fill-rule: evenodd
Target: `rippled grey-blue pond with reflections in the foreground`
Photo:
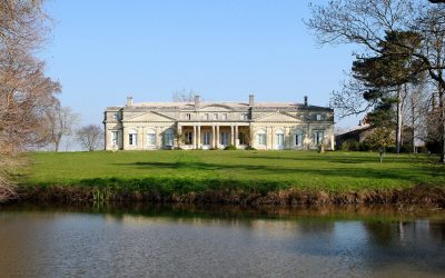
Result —
<instances>
[{"instance_id":1,"label":"rippled grey-blue pond with reflections in the foreground","mask_svg":"<svg viewBox=\"0 0 445 278\"><path fill-rule=\"evenodd\" d=\"M3 206L0 250L1 277L444 277L445 211Z\"/></svg>"}]
</instances>

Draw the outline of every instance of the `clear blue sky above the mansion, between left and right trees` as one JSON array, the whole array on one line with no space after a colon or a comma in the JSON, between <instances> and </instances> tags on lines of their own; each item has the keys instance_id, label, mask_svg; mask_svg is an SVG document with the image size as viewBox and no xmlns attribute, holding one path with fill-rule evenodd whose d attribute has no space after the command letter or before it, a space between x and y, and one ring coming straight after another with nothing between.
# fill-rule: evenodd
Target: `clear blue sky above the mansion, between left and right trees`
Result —
<instances>
[{"instance_id":1,"label":"clear blue sky above the mansion, between left and right trees","mask_svg":"<svg viewBox=\"0 0 445 278\"><path fill-rule=\"evenodd\" d=\"M320 48L303 23L305 0L50 0L55 20L41 56L82 123L107 106L169 101L194 90L206 100L327 106L352 64L350 46ZM338 121L338 119L337 119ZM338 126L357 123L349 118Z\"/></svg>"}]
</instances>

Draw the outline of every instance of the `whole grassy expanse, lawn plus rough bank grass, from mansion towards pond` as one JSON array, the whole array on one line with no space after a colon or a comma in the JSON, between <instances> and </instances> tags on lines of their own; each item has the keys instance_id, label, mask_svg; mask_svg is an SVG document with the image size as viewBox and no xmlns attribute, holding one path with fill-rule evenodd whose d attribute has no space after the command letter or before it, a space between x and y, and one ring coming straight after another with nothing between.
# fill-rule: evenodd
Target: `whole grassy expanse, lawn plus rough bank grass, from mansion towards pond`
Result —
<instances>
[{"instance_id":1,"label":"whole grassy expanse, lawn plus rough bank grass, from mansion towards pond","mask_svg":"<svg viewBox=\"0 0 445 278\"><path fill-rule=\"evenodd\" d=\"M52 191L59 198L76 191L77 198L99 200L288 201L307 192L322 199L346 195L375 199L380 198L375 192L413 190L418 185L445 188L445 168L425 155L387 155L382 165L372 152L37 152L31 159L33 167L22 189Z\"/></svg>"}]
</instances>

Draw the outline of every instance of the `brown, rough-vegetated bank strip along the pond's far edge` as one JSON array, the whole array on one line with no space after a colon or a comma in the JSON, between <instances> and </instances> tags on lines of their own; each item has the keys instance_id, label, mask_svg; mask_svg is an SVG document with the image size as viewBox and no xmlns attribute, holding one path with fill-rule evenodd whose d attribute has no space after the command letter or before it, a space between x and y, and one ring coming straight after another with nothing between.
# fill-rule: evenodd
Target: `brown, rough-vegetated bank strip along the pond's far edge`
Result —
<instances>
[{"instance_id":1,"label":"brown, rough-vegetated bank strip along the pond's far edge","mask_svg":"<svg viewBox=\"0 0 445 278\"><path fill-rule=\"evenodd\" d=\"M166 190L161 187L19 186L8 202L150 202L194 205L434 205L445 208L445 188L418 185L405 189L329 192L296 188L220 187L201 190Z\"/></svg>"}]
</instances>

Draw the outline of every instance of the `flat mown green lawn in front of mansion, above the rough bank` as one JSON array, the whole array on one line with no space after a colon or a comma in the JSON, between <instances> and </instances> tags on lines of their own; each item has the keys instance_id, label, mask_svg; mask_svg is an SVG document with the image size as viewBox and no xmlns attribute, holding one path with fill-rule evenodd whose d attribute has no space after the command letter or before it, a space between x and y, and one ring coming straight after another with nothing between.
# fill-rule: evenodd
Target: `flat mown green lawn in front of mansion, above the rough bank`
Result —
<instances>
[{"instance_id":1,"label":"flat mown green lawn in front of mansion, above the rough bank","mask_svg":"<svg viewBox=\"0 0 445 278\"><path fill-rule=\"evenodd\" d=\"M110 179L120 183L144 179L191 182L200 189L224 182L328 191L445 185L445 167L426 155L386 155L382 165L376 153L337 151L36 152L31 158L33 166L27 181L31 186Z\"/></svg>"}]
</instances>

